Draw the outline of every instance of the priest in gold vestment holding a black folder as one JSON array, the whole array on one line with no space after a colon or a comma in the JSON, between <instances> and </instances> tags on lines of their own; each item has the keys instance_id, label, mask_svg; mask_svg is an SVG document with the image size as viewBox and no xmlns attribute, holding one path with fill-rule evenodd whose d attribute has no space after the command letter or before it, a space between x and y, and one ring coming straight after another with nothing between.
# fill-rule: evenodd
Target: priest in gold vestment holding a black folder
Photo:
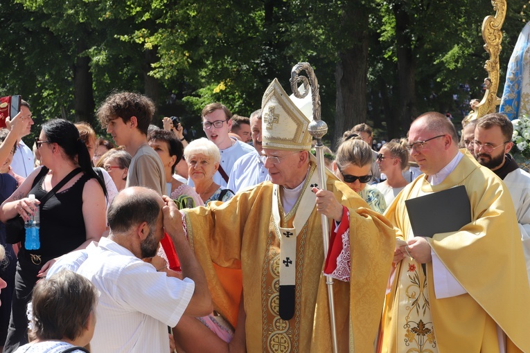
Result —
<instances>
[{"instance_id":1,"label":"priest in gold vestment holding a black folder","mask_svg":"<svg viewBox=\"0 0 530 353\"><path fill-rule=\"evenodd\" d=\"M458 150L442 114L419 116L408 138L425 174L385 213L407 244L394 253L380 352L530 352L530 287L508 189ZM470 222L432 237L414 234L405 200L458 185L466 188Z\"/></svg>"}]
</instances>

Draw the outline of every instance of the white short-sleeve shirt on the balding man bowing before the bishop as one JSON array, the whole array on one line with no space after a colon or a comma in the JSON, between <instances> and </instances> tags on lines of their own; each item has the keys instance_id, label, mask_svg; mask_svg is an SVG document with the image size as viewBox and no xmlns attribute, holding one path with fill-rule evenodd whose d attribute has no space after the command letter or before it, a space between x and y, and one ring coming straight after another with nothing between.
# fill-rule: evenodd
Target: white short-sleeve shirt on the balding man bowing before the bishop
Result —
<instances>
[{"instance_id":1,"label":"white short-sleeve shirt on the balding man bowing before the bishop","mask_svg":"<svg viewBox=\"0 0 530 353\"><path fill-rule=\"evenodd\" d=\"M175 327L184 314L193 280L157 272L105 237L98 246L64 255L50 272L76 268L100 292L91 352L169 351L168 326Z\"/></svg>"}]
</instances>

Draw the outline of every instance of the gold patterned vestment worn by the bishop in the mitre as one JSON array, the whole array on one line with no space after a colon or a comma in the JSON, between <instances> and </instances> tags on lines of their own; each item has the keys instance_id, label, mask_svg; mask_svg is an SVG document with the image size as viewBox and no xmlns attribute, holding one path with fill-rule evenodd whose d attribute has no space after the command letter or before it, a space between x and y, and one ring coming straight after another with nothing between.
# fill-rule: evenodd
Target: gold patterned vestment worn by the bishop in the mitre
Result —
<instances>
[{"instance_id":1,"label":"gold patterned vestment worn by the bishop in the mitre","mask_svg":"<svg viewBox=\"0 0 530 353\"><path fill-rule=\"evenodd\" d=\"M351 213L352 278L350 283L335 281L333 288L339 352L369 352L380 322L394 229L332 174L327 188ZM226 203L184 210L190 243L206 272L215 309L227 318L236 317L237 307L227 300L212 264L242 269L248 352L331 352L316 208L297 237L294 317L279 317L281 244L272 223L272 190L272 183L265 181Z\"/></svg>"}]
</instances>

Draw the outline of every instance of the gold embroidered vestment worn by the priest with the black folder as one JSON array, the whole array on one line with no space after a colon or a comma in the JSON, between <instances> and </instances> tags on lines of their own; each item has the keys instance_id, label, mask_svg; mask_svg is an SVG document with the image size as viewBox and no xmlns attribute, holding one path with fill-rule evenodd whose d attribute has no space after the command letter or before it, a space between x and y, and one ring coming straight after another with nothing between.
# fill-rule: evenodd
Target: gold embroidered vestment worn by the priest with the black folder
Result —
<instances>
[{"instance_id":1,"label":"gold embroidered vestment worn by the priest with the black folder","mask_svg":"<svg viewBox=\"0 0 530 353\"><path fill-rule=\"evenodd\" d=\"M404 201L455 185L466 186L472 222L429 242L467 293L436 300L432 264L425 280L420 264L400 262L385 305L382 352L499 352L497 325L508 336L506 352L530 352L530 287L520 233L509 192L493 172L466 152L443 183L432 186L419 177L385 215L406 238L411 228Z\"/></svg>"}]
</instances>

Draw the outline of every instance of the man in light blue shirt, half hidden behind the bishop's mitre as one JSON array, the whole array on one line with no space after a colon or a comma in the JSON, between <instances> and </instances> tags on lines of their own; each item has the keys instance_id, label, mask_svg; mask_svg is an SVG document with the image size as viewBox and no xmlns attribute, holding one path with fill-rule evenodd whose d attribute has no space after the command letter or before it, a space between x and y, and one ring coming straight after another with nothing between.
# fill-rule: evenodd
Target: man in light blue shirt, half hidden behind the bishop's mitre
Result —
<instances>
[{"instance_id":1,"label":"man in light blue shirt, half hidden behind the bishop's mitre","mask_svg":"<svg viewBox=\"0 0 530 353\"><path fill-rule=\"evenodd\" d=\"M233 192L270 180L269 171L261 157L261 118L261 109L250 114L252 143L256 152L247 153L233 163L228 181L228 188Z\"/></svg>"}]
</instances>

